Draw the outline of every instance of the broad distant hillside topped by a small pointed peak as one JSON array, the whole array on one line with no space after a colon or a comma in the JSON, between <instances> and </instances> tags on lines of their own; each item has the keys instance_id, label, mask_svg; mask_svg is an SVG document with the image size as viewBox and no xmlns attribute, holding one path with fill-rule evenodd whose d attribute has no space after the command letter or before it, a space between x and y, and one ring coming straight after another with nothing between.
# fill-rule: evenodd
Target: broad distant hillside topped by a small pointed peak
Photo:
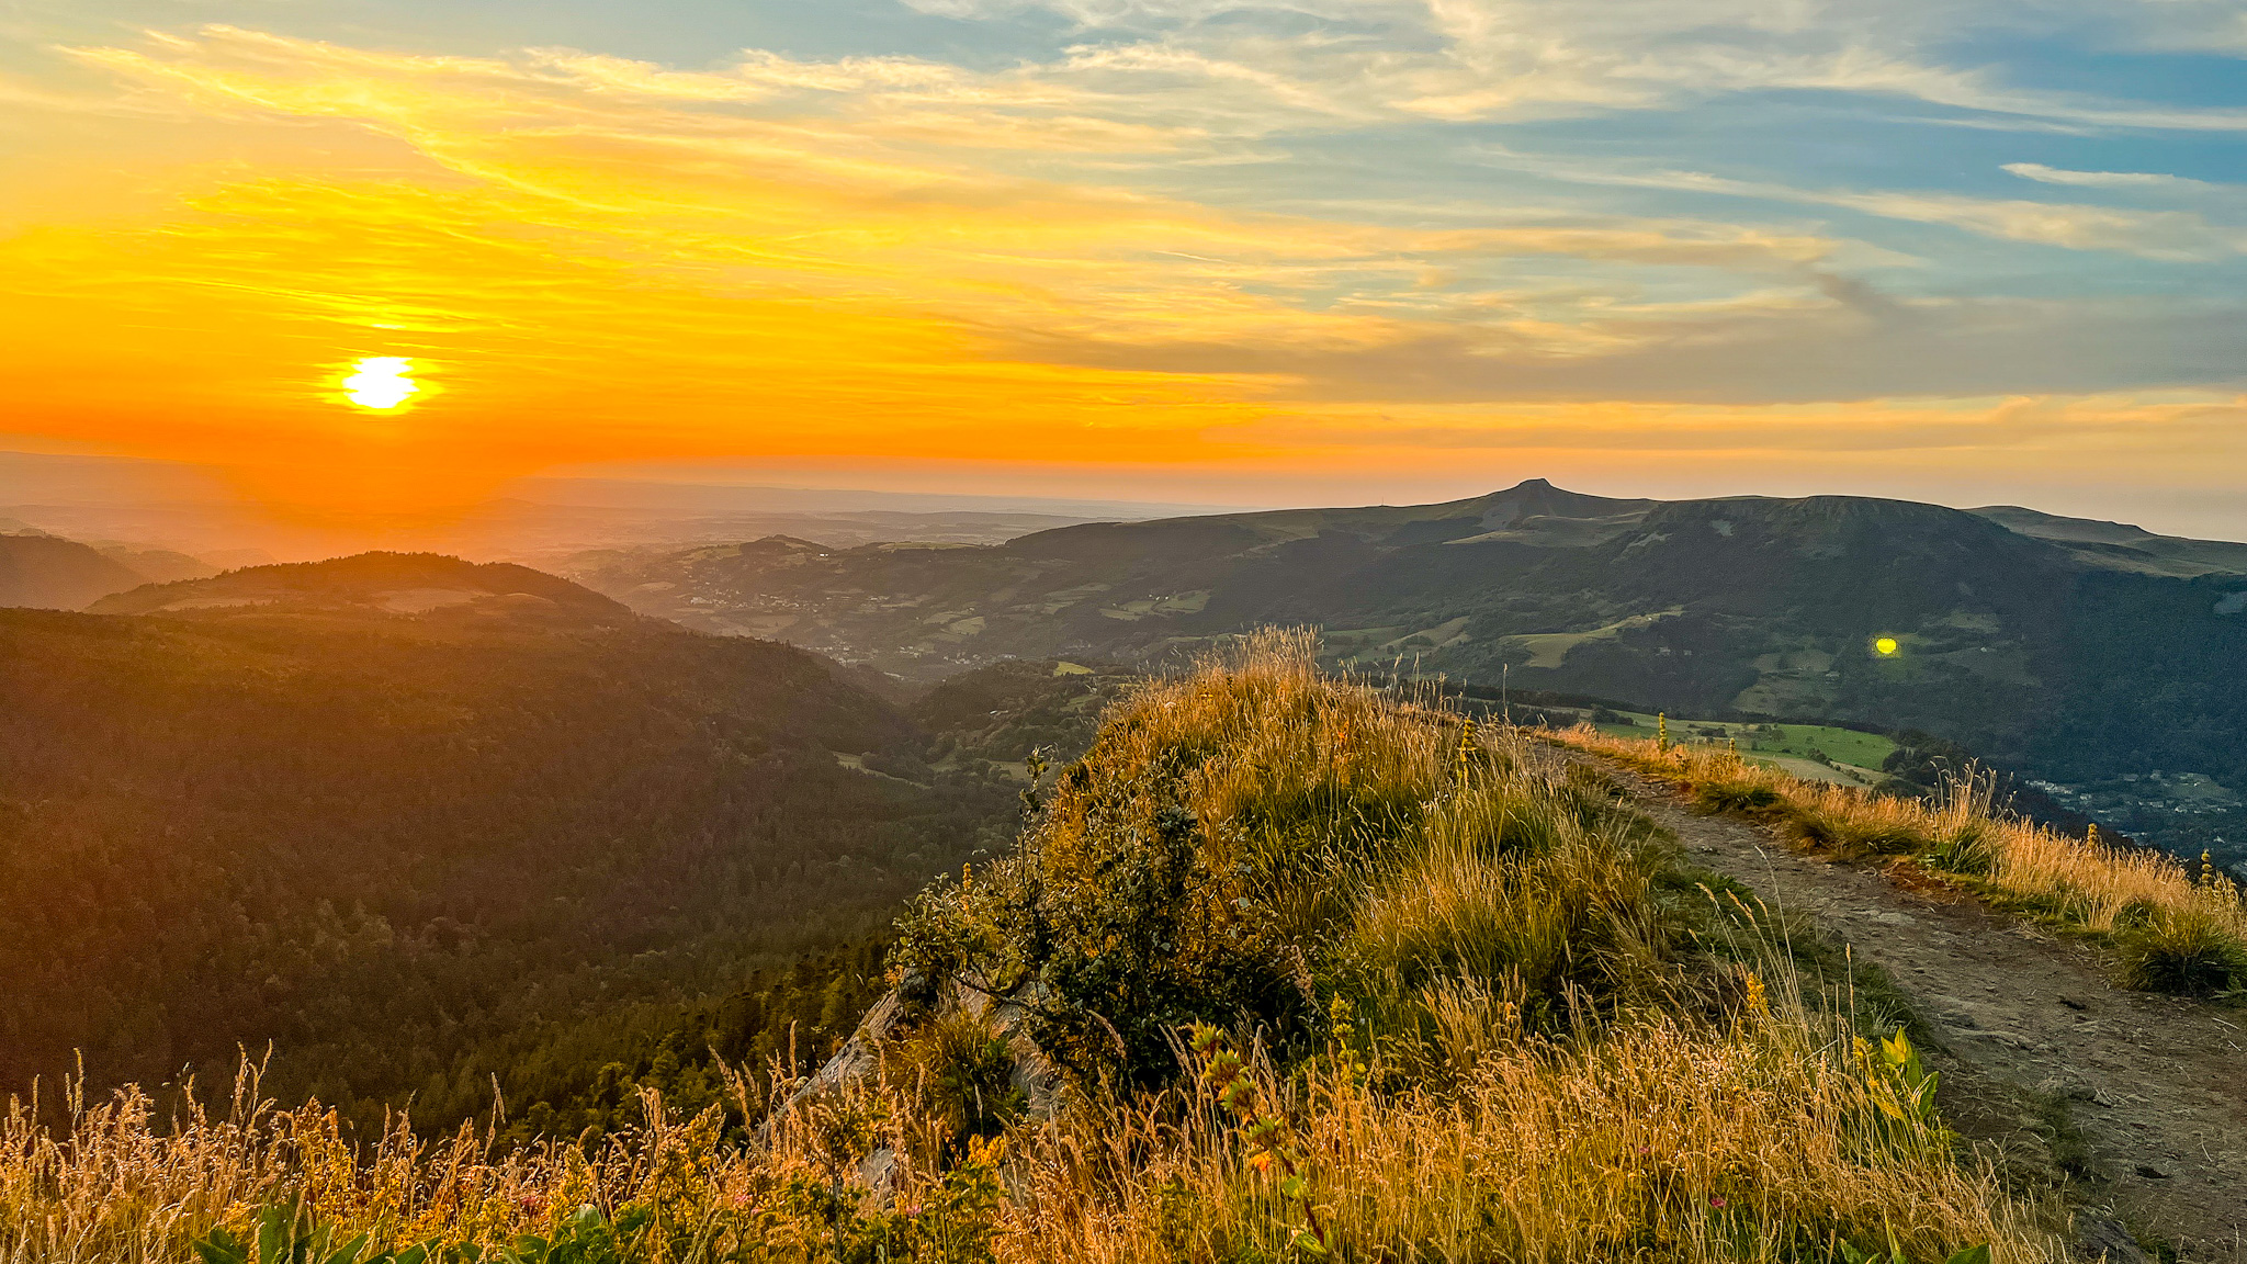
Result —
<instances>
[{"instance_id":1,"label":"broad distant hillside topped by a small pointed peak","mask_svg":"<svg viewBox=\"0 0 2247 1264\"><path fill-rule=\"evenodd\" d=\"M2247 654L2247 547L2031 511L1643 502L1528 481L1436 506L1088 524L998 547L766 540L580 578L649 614L924 681L1004 657L1168 663L1312 623L1330 659L1485 688L1926 731L2056 796L2153 771L2247 792L2234 722L2247 677L2231 670ZM2164 801L2128 825L2247 857L2247 816L2225 803Z\"/></svg>"}]
</instances>

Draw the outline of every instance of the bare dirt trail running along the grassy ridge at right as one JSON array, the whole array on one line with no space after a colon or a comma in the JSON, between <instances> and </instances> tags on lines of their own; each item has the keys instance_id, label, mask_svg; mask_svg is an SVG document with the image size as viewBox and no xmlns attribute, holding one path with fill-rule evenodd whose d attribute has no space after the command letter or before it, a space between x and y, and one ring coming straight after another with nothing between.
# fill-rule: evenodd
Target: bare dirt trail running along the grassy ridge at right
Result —
<instances>
[{"instance_id":1,"label":"bare dirt trail running along the grassy ridge at right","mask_svg":"<svg viewBox=\"0 0 2247 1264\"><path fill-rule=\"evenodd\" d=\"M2121 992L2083 945L1946 888L1798 855L1768 830L1694 814L1670 787L1591 762L1696 864L1887 969L1948 1046L1930 1064L1962 1131L2043 1154L2011 1089L2065 1098L2090 1152L2081 1192L2092 1212L2166 1239L2182 1262L2247 1264L2247 1012Z\"/></svg>"}]
</instances>

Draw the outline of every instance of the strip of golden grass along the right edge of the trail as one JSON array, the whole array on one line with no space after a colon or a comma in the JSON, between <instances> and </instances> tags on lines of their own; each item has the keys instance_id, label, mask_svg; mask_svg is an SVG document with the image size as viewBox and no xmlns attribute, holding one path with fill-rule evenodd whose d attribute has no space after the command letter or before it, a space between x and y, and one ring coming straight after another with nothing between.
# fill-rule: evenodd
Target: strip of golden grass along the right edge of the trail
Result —
<instances>
[{"instance_id":1,"label":"strip of golden grass along the right edge of the trail","mask_svg":"<svg viewBox=\"0 0 2247 1264\"><path fill-rule=\"evenodd\" d=\"M2076 839L1995 810L1991 780L1966 774L1930 798L1809 783L1732 751L1618 738L1591 726L1553 735L1568 747L1674 780L1705 812L1775 823L1798 843L1840 857L1914 857L1995 904L2112 945L2119 981L2177 994L2247 987L2247 906L2202 864Z\"/></svg>"}]
</instances>

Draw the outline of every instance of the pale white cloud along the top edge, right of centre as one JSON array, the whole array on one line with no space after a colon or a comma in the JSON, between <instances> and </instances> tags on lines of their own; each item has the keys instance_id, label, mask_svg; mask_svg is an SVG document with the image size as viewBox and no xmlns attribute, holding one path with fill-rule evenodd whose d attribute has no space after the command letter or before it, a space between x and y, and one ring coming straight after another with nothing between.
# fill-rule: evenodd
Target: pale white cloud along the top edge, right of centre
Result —
<instances>
[{"instance_id":1,"label":"pale white cloud along the top edge, right of centre","mask_svg":"<svg viewBox=\"0 0 2247 1264\"><path fill-rule=\"evenodd\" d=\"M1935 0L912 0L953 18L1049 9L1085 31L1058 81L1144 79L1164 112L1207 110L1245 133L1319 119L1494 121L1674 108L1737 92L1878 94L1989 119L2076 128L2247 130L2247 110L2189 108L2009 85L1926 58L1986 31L2049 31L2034 0L1962 9ZM2238 29L2177 22L2177 4L2083 4L2123 43L2182 45ZM2202 2L2204 18L2216 7ZM1303 34L1306 22L1317 34ZM2159 31L2171 34L2159 34ZM2207 45L2195 52L2204 52ZM2240 47L2247 47L2243 43Z\"/></svg>"}]
</instances>

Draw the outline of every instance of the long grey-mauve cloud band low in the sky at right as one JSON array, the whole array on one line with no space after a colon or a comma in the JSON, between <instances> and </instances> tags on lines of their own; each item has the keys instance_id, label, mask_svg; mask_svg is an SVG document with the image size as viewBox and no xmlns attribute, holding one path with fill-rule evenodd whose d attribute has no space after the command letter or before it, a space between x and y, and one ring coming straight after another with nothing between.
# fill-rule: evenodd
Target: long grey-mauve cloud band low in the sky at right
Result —
<instances>
[{"instance_id":1,"label":"long grey-mauve cloud band low in the sky at right","mask_svg":"<svg viewBox=\"0 0 2247 1264\"><path fill-rule=\"evenodd\" d=\"M1371 346L1029 335L1025 358L1285 380L1323 403L1845 403L2076 394L2247 378L2247 308L2150 301L1896 301L1834 281L1730 310L1573 324L1398 328Z\"/></svg>"}]
</instances>

